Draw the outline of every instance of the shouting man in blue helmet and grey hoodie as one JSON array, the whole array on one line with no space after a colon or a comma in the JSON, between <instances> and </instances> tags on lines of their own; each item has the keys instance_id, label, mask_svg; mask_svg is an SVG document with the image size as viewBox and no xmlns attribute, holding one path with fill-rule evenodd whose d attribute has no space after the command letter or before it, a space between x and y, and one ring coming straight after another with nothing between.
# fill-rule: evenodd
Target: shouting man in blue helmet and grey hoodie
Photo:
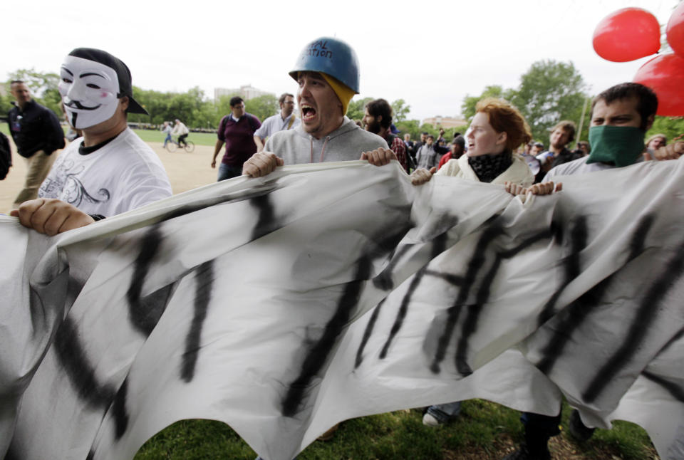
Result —
<instances>
[{"instance_id":1,"label":"shouting man in blue helmet and grey hoodie","mask_svg":"<svg viewBox=\"0 0 684 460\"><path fill-rule=\"evenodd\" d=\"M358 59L351 46L318 38L301 51L290 76L299 84L301 125L269 137L264 151L244 163L242 174L259 177L283 164L358 160L359 155L376 166L397 159L382 137L345 116L358 94Z\"/></svg>"}]
</instances>

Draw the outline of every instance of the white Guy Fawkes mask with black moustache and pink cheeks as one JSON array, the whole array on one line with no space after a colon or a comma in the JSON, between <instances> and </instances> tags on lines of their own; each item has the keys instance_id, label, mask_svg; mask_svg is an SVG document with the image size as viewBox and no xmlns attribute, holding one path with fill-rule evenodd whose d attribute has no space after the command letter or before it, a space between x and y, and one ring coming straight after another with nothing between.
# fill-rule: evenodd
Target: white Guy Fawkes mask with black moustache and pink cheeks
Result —
<instances>
[{"instance_id":1,"label":"white Guy Fawkes mask with black moustache and pink cheeks","mask_svg":"<svg viewBox=\"0 0 684 460\"><path fill-rule=\"evenodd\" d=\"M83 130L113 117L119 105L119 80L113 68L66 56L59 76L59 93L71 126Z\"/></svg>"}]
</instances>

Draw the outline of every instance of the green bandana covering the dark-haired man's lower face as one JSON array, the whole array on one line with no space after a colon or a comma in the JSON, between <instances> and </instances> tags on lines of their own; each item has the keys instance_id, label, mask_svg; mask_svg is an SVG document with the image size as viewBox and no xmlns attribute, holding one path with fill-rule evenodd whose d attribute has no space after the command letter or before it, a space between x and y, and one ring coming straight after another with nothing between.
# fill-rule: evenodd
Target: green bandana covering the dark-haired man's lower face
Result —
<instances>
[{"instance_id":1,"label":"green bandana covering the dark-haired man's lower face","mask_svg":"<svg viewBox=\"0 0 684 460\"><path fill-rule=\"evenodd\" d=\"M586 162L613 163L617 167L634 164L643 152L646 132L633 126L592 126L589 128L591 153Z\"/></svg>"}]
</instances>

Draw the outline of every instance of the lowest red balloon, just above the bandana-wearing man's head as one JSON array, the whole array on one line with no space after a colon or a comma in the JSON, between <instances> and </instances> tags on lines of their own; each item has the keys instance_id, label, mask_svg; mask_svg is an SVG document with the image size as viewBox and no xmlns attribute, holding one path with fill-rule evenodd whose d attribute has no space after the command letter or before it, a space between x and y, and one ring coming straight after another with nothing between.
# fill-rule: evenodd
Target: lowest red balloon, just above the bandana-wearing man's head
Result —
<instances>
[{"instance_id":1,"label":"lowest red balloon, just above the bandana-wearing man's head","mask_svg":"<svg viewBox=\"0 0 684 460\"><path fill-rule=\"evenodd\" d=\"M684 115L684 58L661 54L645 63L634 81L648 86L658 95L658 115Z\"/></svg>"}]
</instances>

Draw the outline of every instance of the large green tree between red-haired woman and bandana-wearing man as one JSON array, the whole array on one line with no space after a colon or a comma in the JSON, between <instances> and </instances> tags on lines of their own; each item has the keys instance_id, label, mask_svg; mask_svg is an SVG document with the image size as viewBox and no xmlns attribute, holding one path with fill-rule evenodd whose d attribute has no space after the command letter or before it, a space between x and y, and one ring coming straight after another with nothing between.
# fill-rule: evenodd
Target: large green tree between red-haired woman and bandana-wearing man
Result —
<instances>
[{"instance_id":1,"label":"large green tree between red-haired woman and bandana-wearing man","mask_svg":"<svg viewBox=\"0 0 684 460\"><path fill-rule=\"evenodd\" d=\"M522 112L532 137L549 140L549 128L560 120L579 124L584 105L584 80L573 63L537 61L520 77L509 102Z\"/></svg>"}]
</instances>

